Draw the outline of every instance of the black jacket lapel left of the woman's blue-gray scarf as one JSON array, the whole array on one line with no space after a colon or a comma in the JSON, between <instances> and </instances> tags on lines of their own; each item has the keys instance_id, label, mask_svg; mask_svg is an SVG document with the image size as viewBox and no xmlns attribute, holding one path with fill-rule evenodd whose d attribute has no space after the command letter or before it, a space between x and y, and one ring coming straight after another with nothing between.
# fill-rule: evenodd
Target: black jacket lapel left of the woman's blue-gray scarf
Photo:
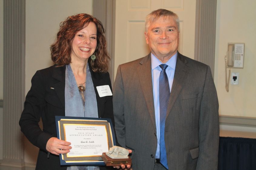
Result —
<instances>
[{"instance_id":1,"label":"black jacket lapel left of the woman's blue-gray scarf","mask_svg":"<svg viewBox=\"0 0 256 170\"><path fill-rule=\"evenodd\" d=\"M56 82L53 82L52 87L55 89L63 107L65 108L65 71L66 66L54 67L54 72L52 77L56 79Z\"/></svg>"}]
</instances>

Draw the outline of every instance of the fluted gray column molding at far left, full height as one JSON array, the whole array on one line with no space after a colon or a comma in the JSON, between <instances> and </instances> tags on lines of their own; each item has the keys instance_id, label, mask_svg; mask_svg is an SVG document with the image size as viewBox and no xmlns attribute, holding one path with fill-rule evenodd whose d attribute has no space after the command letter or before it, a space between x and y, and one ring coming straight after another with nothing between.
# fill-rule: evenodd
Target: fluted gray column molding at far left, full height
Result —
<instances>
[{"instance_id":1,"label":"fluted gray column molding at far left, full height","mask_svg":"<svg viewBox=\"0 0 256 170\"><path fill-rule=\"evenodd\" d=\"M2 104L3 160L0 169L9 167L14 170L25 166L22 133L18 121L25 100L26 1L4 0L3 2L3 99L5 102Z\"/></svg>"}]
</instances>

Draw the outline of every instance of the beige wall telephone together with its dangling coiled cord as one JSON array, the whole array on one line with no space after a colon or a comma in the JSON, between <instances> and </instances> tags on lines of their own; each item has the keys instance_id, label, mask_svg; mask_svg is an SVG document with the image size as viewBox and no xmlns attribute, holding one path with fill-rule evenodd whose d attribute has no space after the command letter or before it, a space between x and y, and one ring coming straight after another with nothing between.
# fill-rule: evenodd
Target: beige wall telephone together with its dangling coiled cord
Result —
<instances>
[{"instance_id":1,"label":"beige wall telephone together with its dangling coiled cord","mask_svg":"<svg viewBox=\"0 0 256 170\"><path fill-rule=\"evenodd\" d=\"M228 75L227 68L229 68ZM228 43L228 51L225 56L225 88L227 92L229 91L231 68L244 68L244 43Z\"/></svg>"}]
</instances>

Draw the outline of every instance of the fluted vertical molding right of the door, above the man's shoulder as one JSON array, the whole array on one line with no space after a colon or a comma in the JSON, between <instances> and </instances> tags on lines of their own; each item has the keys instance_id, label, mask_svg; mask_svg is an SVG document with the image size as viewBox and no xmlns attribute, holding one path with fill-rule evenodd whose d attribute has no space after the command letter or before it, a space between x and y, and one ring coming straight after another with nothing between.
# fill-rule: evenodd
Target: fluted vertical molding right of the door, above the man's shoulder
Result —
<instances>
[{"instance_id":1,"label":"fluted vertical molding right of the door, above the man's shoulder","mask_svg":"<svg viewBox=\"0 0 256 170\"><path fill-rule=\"evenodd\" d=\"M194 59L207 64L214 77L217 0L197 0Z\"/></svg>"}]
</instances>

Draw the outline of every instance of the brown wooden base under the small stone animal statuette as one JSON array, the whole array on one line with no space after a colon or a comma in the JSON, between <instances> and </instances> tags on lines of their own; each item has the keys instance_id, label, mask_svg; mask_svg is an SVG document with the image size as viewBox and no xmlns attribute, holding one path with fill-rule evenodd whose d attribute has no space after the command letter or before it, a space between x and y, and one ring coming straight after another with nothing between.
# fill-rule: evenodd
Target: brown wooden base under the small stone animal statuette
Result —
<instances>
[{"instance_id":1,"label":"brown wooden base under the small stone animal statuette","mask_svg":"<svg viewBox=\"0 0 256 170\"><path fill-rule=\"evenodd\" d=\"M131 158L128 156L127 159L112 159L106 155L105 152L102 153L102 159L106 166L120 166L120 165L131 165Z\"/></svg>"}]
</instances>

